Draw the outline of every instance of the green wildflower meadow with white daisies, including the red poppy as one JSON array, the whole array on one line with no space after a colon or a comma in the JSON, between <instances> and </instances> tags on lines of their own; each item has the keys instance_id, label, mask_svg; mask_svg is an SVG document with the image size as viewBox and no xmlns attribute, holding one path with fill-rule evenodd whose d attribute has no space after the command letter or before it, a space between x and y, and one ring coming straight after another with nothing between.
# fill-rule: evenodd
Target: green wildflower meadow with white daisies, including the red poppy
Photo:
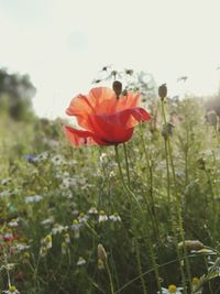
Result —
<instances>
[{"instance_id":1,"label":"green wildflower meadow with white daisies, including the red poppy","mask_svg":"<svg viewBox=\"0 0 220 294\"><path fill-rule=\"evenodd\" d=\"M0 293L220 293L219 117L114 92L0 117Z\"/></svg>"}]
</instances>

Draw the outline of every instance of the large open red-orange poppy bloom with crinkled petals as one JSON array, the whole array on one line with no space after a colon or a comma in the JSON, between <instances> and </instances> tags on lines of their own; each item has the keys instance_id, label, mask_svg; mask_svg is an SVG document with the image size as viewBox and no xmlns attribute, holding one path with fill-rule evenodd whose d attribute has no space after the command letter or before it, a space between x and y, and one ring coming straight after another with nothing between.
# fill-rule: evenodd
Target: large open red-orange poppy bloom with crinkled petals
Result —
<instances>
[{"instance_id":1,"label":"large open red-orange poppy bloom with crinkled petals","mask_svg":"<svg viewBox=\"0 0 220 294\"><path fill-rule=\"evenodd\" d=\"M134 127L151 119L148 112L139 107L141 95L128 92L117 98L110 88L98 87L87 96L75 97L66 110L75 116L85 130L65 127L67 139L76 146L82 144L113 145L129 141Z\"/></svg>"}]
</instances>

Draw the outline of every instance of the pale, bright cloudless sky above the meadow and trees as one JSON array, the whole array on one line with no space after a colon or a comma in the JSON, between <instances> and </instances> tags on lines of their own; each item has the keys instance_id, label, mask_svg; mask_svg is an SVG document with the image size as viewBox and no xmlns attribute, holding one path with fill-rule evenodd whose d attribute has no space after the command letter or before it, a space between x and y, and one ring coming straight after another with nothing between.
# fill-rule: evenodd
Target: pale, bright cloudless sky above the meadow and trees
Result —
<instances>
[{"instance_id":1,"label":"pale, bright cloudless sky above the meadow and trees","mask_svg":"<svg viewBox=\"0 0 220 294\"><path fill-rule=\"evenodd\" d=\"M0 0L0 67L30 74L37 115L63 117L102 66L152 73L178 94L215 94L219 0Z\"/></svg>"}]
</instances>

